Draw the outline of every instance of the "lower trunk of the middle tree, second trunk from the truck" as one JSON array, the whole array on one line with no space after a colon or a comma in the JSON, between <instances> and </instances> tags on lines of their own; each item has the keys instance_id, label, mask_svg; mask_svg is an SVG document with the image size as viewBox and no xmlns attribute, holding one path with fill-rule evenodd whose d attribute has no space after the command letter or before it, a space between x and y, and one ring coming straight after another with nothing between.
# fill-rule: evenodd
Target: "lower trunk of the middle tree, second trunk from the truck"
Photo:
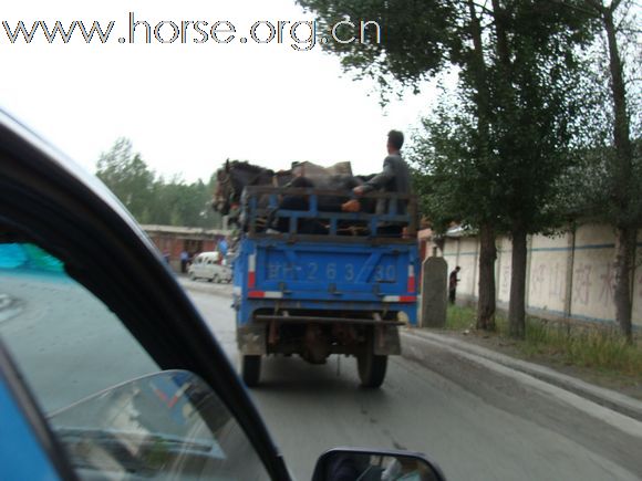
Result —
<instances>
[{"instance_id":1,"label":"lower trunk of the middle tree, second trunk from the truck","mask_svg":"<svg viewBox=\"0 0 642 481\"><path fill-rule=\"evenodd\" d=\"M526 230L512 230L512 266L510 272L510 301L508 304L508 332L522 339L526 333Z\"/></svg>"}]
</instances>

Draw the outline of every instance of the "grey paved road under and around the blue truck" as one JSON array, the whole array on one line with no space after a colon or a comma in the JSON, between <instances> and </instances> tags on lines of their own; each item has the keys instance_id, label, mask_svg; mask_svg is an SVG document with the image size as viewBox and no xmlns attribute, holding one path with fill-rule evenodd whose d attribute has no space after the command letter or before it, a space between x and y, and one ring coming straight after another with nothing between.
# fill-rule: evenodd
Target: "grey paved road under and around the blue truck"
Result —
<instances>
[{"instance_id":1,"label":"grey paved road under and around the blue truck","mask_svg":"<svg viewBox=\"0 0 642 481\"><path fill-rule=\"evenodd\" d=\"M191 297L236 362L229 300ZM352 358L325 366L268 359L252 395L300 480L338 445L423 451L451 480L642 479L642 433L623 433L445 351L432 357L431 369L394 357L380 390L358 388Z\"/></svg>"}]
</instances>

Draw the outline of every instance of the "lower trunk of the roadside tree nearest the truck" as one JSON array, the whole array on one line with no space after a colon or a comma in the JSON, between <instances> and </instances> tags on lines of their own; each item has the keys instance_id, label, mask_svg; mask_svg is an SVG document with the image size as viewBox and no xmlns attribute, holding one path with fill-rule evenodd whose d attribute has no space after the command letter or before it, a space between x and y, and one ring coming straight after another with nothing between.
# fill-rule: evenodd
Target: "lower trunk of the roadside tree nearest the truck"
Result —
<instances>
[{"instance_id":1,"label":"lower trunk of the roadside tree nearest the truck","mask_svg":"<svg viewBox=\"0 0 642 481\"><path fill-rule=\"evenodd\" d=\"M479 228L479 300L477 302L477 328L495 331L495 229L490 224Z\"/></svg>"}]
</instances>

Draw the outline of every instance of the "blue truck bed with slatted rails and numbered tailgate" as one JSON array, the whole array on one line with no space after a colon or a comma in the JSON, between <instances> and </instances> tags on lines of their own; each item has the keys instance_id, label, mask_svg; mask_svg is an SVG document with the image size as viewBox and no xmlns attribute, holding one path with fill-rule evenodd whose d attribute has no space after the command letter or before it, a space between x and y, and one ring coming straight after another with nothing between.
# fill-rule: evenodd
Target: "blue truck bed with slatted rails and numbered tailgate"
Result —
<instances>
[{"instance_id":1,"label":"blue truck bed with slatted rails and numbered tailgate","mask_svg":"<svg viewBox=\"0 0 642 481\"><path fill-rule=\"evenodd\" d=\"M416 323L416 276L418 252L414 238L414 199L411 196L373 195L390 200L384 213L344 213L319 210L318 198L336 192L290 189L286 192L309 196L310 208L278 211L290 220L286 232L268 231L260 219L278 206L279 188L248 188L247 232L235 261L235 302L238 322L246 324L270 309L288 310L314 317L348 313L351 318L375 313L403 313L401 318ZM345 192L343 196L349 197ZM262 203L261 203L262 198ZM408 201L406 213L398 215L397 200ZM315 219L328 226L324 234L297 232L301 219ZM341 234L341 227L353 222L363 234ZM406 236L390 236L377 228L405 222ZM363 229L363 226L366 229ZM349 231L349 229L348 229Z\"/></svg>"}]
</instances>

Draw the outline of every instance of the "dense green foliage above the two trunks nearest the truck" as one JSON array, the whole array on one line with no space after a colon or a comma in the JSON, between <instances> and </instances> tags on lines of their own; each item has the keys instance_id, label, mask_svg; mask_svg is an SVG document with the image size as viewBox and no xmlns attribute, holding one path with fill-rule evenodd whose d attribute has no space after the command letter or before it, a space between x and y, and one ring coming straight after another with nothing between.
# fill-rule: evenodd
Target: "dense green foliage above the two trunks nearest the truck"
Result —
<instances>
[{"instance_id":1,"label":"dense green foliage above the two trunks nearest the truck","mask_svg":"<svg viewBox=\"0 0 642 481\"><path fill-rule=\"evenodd\" d=\"M568 213L565 179L588 119L579 46L594 24L549 2L494 7L500 10L459 11L460 31L474 32L473 11L485 30L457 51L457 88L441 96L415 138L416 185L436 226L541 232Z\"/></svg>"}]
</instances>

